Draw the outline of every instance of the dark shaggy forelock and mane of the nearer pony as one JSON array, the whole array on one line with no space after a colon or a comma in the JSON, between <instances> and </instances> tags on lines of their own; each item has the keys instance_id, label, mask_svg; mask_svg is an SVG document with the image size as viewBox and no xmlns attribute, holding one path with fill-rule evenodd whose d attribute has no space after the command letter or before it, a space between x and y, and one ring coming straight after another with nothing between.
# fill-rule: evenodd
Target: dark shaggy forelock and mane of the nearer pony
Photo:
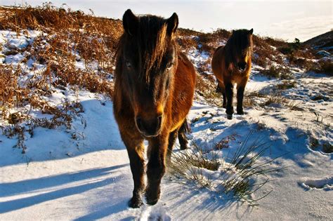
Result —
<instances>
[{"instance_id":1,"label":"dark shaggy forelock and mane of the nearer pony","mask_svg":"<svg viewBox=\"0 0 333 221\"><path fill-rule=\"evenodd\" d=\"M124 44L136 41L138 51L138 67L141 78L150 81L149 73L162 63L169 38L166 37L166 20L155 15L142 15L138 17L138 32L131 36L127 32L122 34L117 48L117 55L122 55ZM134 53L134 52L133 52Z\"/></svg>"}]
</instances>

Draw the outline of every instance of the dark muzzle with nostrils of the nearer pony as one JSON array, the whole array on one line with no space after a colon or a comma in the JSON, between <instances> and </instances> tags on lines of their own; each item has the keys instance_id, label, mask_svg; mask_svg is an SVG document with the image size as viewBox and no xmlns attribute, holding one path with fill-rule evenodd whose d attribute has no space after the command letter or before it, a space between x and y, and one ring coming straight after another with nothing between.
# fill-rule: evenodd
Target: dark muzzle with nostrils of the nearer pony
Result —
<instances>
[{"instance_id":1,"label":"dark muzzle with nostrils of the nearer pony","mask_svg":"<svg viewBox=\"0 0 333 221\"><path fill-rule=\"evenodd\" d=\"M136 117L136 127L145 137L156 137L162 125L162 115L153 119L143 119L141 116Z\"/></svg>"}]
</instances>

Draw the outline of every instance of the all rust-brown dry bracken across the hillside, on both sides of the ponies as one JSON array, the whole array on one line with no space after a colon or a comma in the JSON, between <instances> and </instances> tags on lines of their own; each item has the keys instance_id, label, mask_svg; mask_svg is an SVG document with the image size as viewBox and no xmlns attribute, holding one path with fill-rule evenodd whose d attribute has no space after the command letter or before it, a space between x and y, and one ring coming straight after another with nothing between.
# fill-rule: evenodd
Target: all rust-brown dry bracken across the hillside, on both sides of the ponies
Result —
<instances>
[{"instance_id":1,"label":"all rust-brown dry bracken across the hillside, on both sides of the ponies","mask_svg":"<svg viewBox=\"0 0 333 221\"><path fill-rule=\"evenodd\" d=\"M21 124L32 121L29 110L25 109L29 104L34 109L55 116L52 122L39 120L34 122L35 126L70 126L70 116L60 114L68 104L63 104L63 107L51 107L44 99L39 99L50 96L55 89L65 90L68 86L74 86L112 97L115 62L113 55L123 31L122 21L98 18L93 14L72 11L67 6L65 8L57 8L51 3L36 8L0 7L0 29L11 29L17 36L27 36L27 29L44 33L34 38L33 43L26 48L7 48L8 50L4 51L6 55L24 54L25 58L20 65L26 65L28 60L33 60L35 64L45 67L22 82L22 76L27 75L23 69L15 65L0 65L0 120L9 124L8 130L3 128L8 136L15 134L18 135L18 140L24 140L24 131L28 129L21 128ZM211 56L214 49L229 36L230 32L225 29L217 29L211 33L178 29L181 50L196 48L200 52L207 51ZM277 39L254 36L254 53L257 55L254 62L263 66L270 65L271 61L282 62L281 54L272 46L278 48L288 44ZM296 53L299 52L294 53L298 56ZM84 64L84 68L78 69L77 62ZM207 74L210 71L209 63L210 60L207 60L197 69L199 74L196 92L209 103L221 105L222 96L216 93L214 78ZM32 70L35 68L37 67L32 67ZM329 72L332 70L332 64L320 67L311 65L311 68L321 68ZM287 78L283 73L279 73L278 77ZM61 124L58 121L65 123ZM18 147L24 147L21 141Z\"/></svg>"}]
</instances>

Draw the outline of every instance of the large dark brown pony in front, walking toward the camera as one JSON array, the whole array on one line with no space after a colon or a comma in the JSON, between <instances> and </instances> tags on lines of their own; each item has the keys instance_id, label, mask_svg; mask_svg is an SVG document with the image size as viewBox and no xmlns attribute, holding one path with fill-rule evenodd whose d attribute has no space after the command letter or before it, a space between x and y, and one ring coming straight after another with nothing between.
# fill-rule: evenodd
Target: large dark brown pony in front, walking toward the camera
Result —
<instances>
[{"instance_id":1,"label":"large dark brown pony in front, walking toward the camera","mask_svg":"<svg viewBox=\"0 0 333 221\"><path fill-rule=\"evenodd\" d=\"M157 203L166 155L170 156L177 135L181 148L186 148L183 133L192 106L195 69L178 51L176 13L164 19L137 17L127 10L123 26L117 50L114 113L134 181L129 206L138 208L143 191L148 204ZM144 140L149 144L146 171Z\"/></svg>"}]
</instances>

